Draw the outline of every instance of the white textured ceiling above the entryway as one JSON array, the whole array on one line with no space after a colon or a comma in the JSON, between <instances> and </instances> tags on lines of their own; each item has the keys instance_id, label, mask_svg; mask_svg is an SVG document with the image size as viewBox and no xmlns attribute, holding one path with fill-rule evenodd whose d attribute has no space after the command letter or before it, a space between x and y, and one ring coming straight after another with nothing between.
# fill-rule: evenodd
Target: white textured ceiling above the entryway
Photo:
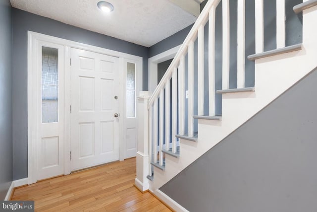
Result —
<instances>
[{"instance_id":1,"label":"white textured ceiling above the entryway","mask_svg":"<svg viewBox=\"0 0 317 212\"><path fill-rule=\"evenodd\" d=\"M197 17L175 0L107 0L114 10L104 13L99 0L10 0L13 7L121 40L150 47L194 23ZM195 11L200 0L195 2ZM184 8L184 9L183 9ZM195 15L193 15L195 14Z\"/></svg>"}]
</instances>

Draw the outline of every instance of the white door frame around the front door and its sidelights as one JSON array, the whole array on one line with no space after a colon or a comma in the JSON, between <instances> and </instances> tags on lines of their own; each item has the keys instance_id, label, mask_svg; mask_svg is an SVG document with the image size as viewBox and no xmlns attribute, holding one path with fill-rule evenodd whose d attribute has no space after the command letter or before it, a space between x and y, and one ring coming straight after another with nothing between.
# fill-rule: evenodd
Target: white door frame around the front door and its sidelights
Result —
<instances>
[{"instance_id":1,"label":"white door frame around the front door and its sidelights","mask_svg":"<svg viewBox=\"0 0 317 212\"><path fill-rule=\"evenodd\" d=\"M104 55L109 55L119 58L119 84L124 85L120 86L120 95L125 99L125 82L122 76L125 76L124 72L124 59L133 60L137 64L136 75L137 75L137 84L139 85L136 91L142 90L142 57L130 55L122 52L117 52L113 50L104 49L101 47L96 47L88 44L82 44L75 41L69 41L49 35L44 35L37 32L28 31L28 65L27 65L27 113L28 113L28 184L36 183L38 176L38 166L37 166L37 154L38 146L36 139L39 135L39 129L37 129L36 120L38 120L39 111L42 111L38 106L40 97L34 93L36 88L35 82L40 80L41 74L37 74L38 70L36 67L37 58L34 57L37 55L37 45L38 41L45 41L49 43L64 45L64 174L70 174L71 172L71 161L70 161L70 150L71 150L71 114L70 114L70 104L71 104L71 48L83 49L91 52L96 52ZM125 119L126 112L125 106L123 105L125 101L120 101L119 113L122 117L119 123L119 132L125 132ZM125 133L120 134L120 160L125 158L124 147L125 144Z\"/></svg>"}]
</instances>

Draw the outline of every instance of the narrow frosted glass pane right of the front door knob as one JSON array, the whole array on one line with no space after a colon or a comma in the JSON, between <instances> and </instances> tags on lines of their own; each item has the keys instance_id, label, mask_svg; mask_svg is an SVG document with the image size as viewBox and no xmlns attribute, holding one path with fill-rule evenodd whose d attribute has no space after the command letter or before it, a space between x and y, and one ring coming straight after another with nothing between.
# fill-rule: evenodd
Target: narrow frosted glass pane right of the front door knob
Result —
<instances>
[{"instance_id":1,"label":"narrow frosted glass pane right of the front door knob","mask_svg":"<svg viewBox=\"0 0 317 212\"><path fill-rule=\"evenodd\" d=\"M135 64L127 63L127 118L135 117Z\"/></svg>"}]
</instances>

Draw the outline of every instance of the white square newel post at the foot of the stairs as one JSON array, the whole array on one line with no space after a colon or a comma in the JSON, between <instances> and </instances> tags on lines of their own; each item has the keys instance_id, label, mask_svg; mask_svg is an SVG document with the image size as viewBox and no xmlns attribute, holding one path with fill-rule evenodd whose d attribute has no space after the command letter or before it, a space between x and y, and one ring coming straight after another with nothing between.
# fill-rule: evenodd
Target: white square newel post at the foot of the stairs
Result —
<instances>
[{"instance_id":1,"label":"white square newel post at the foot of the stairs","mask_svg":"<svg viewBox=\"0 0 317 212\"><path fill-rule=\"evenodd\" d=\"M140 91L138 100L138 151L137 151L137 177L134 184L141 191L149 189L149 111L148 102L150 91Z\"/></svg>"}]
</instances>

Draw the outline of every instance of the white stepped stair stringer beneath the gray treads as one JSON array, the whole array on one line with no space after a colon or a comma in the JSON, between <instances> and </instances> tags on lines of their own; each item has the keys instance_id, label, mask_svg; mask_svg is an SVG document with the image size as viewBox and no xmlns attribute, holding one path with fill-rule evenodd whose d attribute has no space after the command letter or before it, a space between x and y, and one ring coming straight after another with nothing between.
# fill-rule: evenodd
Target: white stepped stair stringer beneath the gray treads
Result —
<instances>
[{"instance_id":1,"label":"white stepped stair stringer beneath the gray treads","mask_svg":"<svg viewBox=\"0 0 317 212\"><path fill-rule=\"evenodd\" d=\"M179 158L165 155L165 170L154 168L152 191L171 180L317 67L316 20L317 6L303 11L302 50L255 61L255 92L222 94L221 121L198 121L198 142L181 140Z\"/></svg>"}]
</instances>

